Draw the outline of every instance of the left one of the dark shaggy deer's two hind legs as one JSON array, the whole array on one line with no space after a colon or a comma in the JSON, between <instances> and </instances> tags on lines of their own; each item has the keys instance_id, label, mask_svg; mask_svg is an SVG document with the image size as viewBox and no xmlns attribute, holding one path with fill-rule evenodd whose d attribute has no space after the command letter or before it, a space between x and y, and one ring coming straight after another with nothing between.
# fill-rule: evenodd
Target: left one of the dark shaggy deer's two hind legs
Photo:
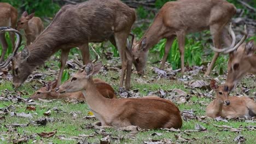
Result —
<instances>
[{"instance_id":1,"label":"left one of the dark shaggy deer's two hind legs","mask_svg":"<svg viewBox=\"0 0 256 144\"><path fill-rule=\"evenodd\" d=\"M128 34L126 33L119 32L114 34L115 44L117 45L119 56L122 62L122 73L121 73L119 87L123 87L124 77L127 69L127 59L125 57L125 46L126 46L127 37L128 37Z\"/></svg>"}]
</instances>

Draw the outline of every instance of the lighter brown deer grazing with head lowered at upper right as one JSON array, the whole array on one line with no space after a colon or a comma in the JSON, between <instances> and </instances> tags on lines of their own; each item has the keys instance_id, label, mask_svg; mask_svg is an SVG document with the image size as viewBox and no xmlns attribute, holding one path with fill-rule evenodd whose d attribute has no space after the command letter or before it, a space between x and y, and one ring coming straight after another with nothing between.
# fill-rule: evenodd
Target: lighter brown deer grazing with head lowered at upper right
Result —
<instances>
[{"instance_id":1,"label":"lighter brown deer grazing with head lowered at upper right","mask_svg":"<svg viewBox=\"0 0 256 144\"><path fill-rule=\"evenodd\" d=\"M222 38L226 45L230 45L225 26L235 13L235 6L225 0L179 0L165 3L141 40L132 47L133 63L137 73L144 74L149 49L159 40L166 38L165 55L160 67L164 69L168 52L174 38L177 37L181 53L181 72L184 74L185 35L210 29L215 47L221 48ZM215 52L205 75L210 74L218 56L219 53Z\"/></svg>"}]
</instances>

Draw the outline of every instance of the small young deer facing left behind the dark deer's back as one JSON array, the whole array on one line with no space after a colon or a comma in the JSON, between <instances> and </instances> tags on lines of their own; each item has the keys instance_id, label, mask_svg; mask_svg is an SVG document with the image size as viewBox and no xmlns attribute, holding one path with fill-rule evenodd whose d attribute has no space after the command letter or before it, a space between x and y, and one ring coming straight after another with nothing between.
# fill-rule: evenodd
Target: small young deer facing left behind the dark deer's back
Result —
<instances>
[{"instance_id":1,"label":"small young deer facing left behind the dark deer's back","mask_svg":"<svg viewBox=\"0 0 256 144\"><path fill-rule=\"evenodd\" d=\"M20 29L24 29L27 45L30 45L43 32L43 21L35 17L34 13L28 15L27 11L24 11L17 23L17 30L20 31Z\"/></svg>"}]
</instances>

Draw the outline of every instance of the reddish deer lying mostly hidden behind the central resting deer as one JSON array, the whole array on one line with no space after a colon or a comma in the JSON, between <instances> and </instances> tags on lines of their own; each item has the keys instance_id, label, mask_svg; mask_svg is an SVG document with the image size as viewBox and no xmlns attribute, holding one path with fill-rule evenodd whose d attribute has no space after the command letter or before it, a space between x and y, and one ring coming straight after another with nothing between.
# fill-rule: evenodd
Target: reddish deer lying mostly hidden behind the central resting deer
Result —
<instances>
[{"instance_id":1,"label":"reddish deer lying mostly hidden behind the central resting deer","mask_svg":"<svg viewBox=\"0 0 256 144\"><path fill-rule=\"evenodd\" d=\"M114 89L108 85L108 83L102 81L101 79L94 79L94 83L98 91L105 98L115 99ZM38 100L40 99L77 99L84 100L84 95L82 92L74 92L74 93L57 93L55 88L57 86L57 80L49 81L42 88L38 89L34 94L31 95L31 99Z\"/></svg>"}]
</instances>

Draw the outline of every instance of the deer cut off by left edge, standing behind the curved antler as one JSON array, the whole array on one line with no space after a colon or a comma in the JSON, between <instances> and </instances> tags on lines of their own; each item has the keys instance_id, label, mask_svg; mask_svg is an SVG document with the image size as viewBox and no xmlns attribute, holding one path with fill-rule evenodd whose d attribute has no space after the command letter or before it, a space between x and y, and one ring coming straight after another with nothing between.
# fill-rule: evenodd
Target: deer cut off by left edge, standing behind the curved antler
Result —
<instances>
[{"instance_id":1,"label":"deer cut off by left edge, standing behind the curved antler","mask_svg":"<svg viewBox=\"0 0 256 144\"><path fill-rule=\"evenodd\" d=\"M17 17L18 17L17 9L15 9L13 6L11 6L8 3L0 3L0 27L15 28ZM10 35L11 44L14 50L14 46L15 46L14 33L9 33L9 35ZM0 42L2 43L2 54L0 57L0 64L1 64L4 61L4 56L8 49L8 44L5 39L4 33L0 33Z\"/></svg>"}]
</instances>

